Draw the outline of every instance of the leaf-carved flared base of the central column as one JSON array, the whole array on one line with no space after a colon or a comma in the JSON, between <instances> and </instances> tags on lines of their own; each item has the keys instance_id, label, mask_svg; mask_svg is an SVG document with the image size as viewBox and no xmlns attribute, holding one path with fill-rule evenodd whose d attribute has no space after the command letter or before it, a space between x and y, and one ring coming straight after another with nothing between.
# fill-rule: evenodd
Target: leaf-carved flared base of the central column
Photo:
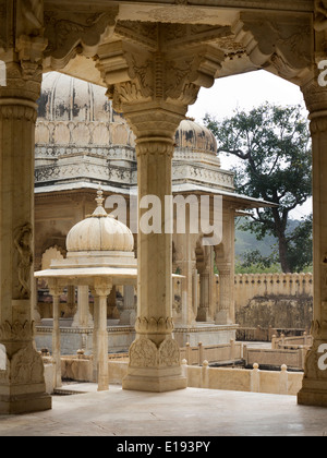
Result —
<instances>
[{"instance_id":1,"label":"leaf-carved flared base of the central column","mask_svg":"<svg viewBox=\"0 0 327 458\"><path fill-rule=\"evenodd\" d=\"M159 347L146 337L138 337L130 348L128 375L123 389L164 393L184 389L179 345L167 337Z\"/></svg>"}]
</instances>

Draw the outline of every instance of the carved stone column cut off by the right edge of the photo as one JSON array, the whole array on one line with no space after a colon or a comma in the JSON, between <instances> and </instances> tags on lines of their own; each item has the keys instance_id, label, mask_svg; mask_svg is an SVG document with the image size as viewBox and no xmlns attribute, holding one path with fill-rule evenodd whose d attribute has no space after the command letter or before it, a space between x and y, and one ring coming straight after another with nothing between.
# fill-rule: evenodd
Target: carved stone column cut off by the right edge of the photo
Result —
<instances>
[{"instance_id":1,"label":"carved stone column cut off by the right edge of the photo","mask_svg":"<svg viewBox=\"0 0 327 458\"><path fill-rule=\"evenodd\" d=\"M314 342L305 362L299 403L327 406L327 88L315 76L302 87L310 111L313 142ZM324 347L325 346L325 347ZM320 360L322 361L322 360Z\"/></svg>"}]
</instances>

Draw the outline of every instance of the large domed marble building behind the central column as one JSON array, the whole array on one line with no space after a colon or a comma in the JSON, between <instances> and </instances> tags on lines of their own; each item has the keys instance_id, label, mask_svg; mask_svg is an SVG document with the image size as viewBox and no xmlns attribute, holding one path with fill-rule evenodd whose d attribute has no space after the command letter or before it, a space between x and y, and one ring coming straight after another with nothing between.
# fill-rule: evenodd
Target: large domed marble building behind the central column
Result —
<instances>
[{"instance_id":1,"label":"large domed marble building behind the central column","mask_svg":"<svg viewBox=\"0 0 327 458\"><path fill-rule=\"evenodd\" d=\"M97 263L102 260L106 264L108 258L113 262L114 256L108 255L112 254L112 246L119 248L120 262L124 260L126 268L132 268L132 261L135 261L132 251L137 258L137 212L136 216L132 212L137 194L133 132L113 110L105 88L64 74L53 72L44 76L38 107L35 269L48 269L56 262L81 269L84 262L89 262L85 253L90 252L99 254ZM233 173L221 168L217 143L208 129L185 119L177 130L174 141L171 173L172 197L177 205L173 206L172 274L181 276L172 280L174 339L181 347L186 342L197 346L199 341L204 345L229 343L235 338L237 329L234 218L266 203L235 193ZM101 198L106 198L106 210L100 206L96 210L100 214L95 215L94 195L99 186L104 192ZM209 232L205 227L191 228L196 216L192 212L196 210L197 202L197 215L202 215L204 197L209 202L210 219L216 215L214 203L218 203L221 237L215 243L206 243ZM114 210L117 215L120 198L126 203L124 224L132 231L123 229L123 233L118 231L114 238L107 238L107 224L116 222L101 212ZM88 215L93 216L87 218ZM181 221L185 222L185 230L180 230ZM86 239L84 234L87 234ZM36 342L43 347L49 342L47 336L52 332L52 300L45 280L38 278L36 288ZM109 351L128 350L133 341L136 299L137 290L133 285L114 281L107 301ZM68 286L60 296L59 323L62 341L66 342L62 348L64 354L71 354L76 348L92 351L94 301L89 288L78 281ZM82 340L80 329L84 330Z\"/></svg>"}]
</instances>

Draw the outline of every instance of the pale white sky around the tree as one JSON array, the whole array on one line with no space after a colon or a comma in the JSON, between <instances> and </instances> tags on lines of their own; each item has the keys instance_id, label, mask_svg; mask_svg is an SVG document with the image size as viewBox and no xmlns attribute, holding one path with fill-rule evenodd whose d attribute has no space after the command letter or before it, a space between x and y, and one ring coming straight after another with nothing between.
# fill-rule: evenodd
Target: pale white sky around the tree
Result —
<instances>
[{"instance_id":1,"label":"pale white sky around the tree","mask_svg":"<svg viewBox=\"0 0 327 458\"><path fill-rule=\"evenodd\" d=\"M264 70L216 80L215 85L202 88L197 101L190 107L187 116L202 123L206 113L217 120L233 116L237 109L250 111L264 103L281 106L301 105L306 113L302 93L298 86ZM221 167L229 169L232 158L221 157ZM296 208L291 217L300 219L312 212L310 198Z\"/></svg>"}]
</instances>

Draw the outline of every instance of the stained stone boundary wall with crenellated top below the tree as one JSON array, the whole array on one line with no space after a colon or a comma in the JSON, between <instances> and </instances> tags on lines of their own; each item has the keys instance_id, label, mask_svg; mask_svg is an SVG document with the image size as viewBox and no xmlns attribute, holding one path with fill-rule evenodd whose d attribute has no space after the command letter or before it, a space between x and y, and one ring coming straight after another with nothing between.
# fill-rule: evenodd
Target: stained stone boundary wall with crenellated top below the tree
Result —
<instances>
[{"instance_id":1,"label":"stained stone boundary wall with crenellated top below the tree","mask_svg":"<svg viewBox=\"0 0 327 458\"><path fill-rule=\"evenodd\" d=\"M310 329L312 274L235 276L235 315L240 327Z\"/></svg>"}]
</instances>

